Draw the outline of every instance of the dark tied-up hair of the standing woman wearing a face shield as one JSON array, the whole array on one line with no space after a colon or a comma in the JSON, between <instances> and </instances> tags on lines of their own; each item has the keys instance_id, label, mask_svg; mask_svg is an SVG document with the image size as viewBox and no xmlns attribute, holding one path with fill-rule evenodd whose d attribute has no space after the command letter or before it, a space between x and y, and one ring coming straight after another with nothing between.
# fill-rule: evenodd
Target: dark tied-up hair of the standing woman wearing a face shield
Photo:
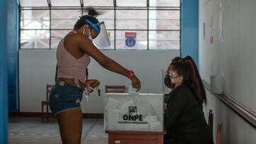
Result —
<instances>
[{"instance_id":1,"label":"dark tied-up hair of the standing woman wearing a face shield","mask_svg":"<svg viewBox=\"0 0 256 144\"><path fill-rule=\"evenodd\" d=\"M74 26L75 30L77 30L77 29L81 28L82 26L84 26L85 24L87 24L85 22L85 20L89 20L94 24L99 23L99 21L96 18L98 15L101 14L99 11L96 11L92 7L86 8L85 11L87 11L88 14L80 17L80 19L75 23L75 26Z\"/></svg>"}]
</instances>

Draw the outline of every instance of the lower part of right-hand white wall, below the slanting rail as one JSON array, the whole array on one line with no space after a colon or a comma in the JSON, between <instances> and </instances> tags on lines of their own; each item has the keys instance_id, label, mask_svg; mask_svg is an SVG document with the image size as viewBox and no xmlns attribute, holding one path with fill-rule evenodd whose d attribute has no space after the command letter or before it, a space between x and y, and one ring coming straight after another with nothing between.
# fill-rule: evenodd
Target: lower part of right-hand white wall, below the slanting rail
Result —
<instances>
[{"instance_id":1,"label":"lower part of right-hand white wall, below the slanting rail","mask_svg":"<svg viewBox=\"0 0 256 144\"><path fill-rule=\"evenodd\" d=\"M223 144L255 144L256 130L242 119L220 99L206 90L208 104L205 117L208 119L209 110L213 110L213 138L216 140L217 125L222 127Z\"/></svg>"}]
</instances>

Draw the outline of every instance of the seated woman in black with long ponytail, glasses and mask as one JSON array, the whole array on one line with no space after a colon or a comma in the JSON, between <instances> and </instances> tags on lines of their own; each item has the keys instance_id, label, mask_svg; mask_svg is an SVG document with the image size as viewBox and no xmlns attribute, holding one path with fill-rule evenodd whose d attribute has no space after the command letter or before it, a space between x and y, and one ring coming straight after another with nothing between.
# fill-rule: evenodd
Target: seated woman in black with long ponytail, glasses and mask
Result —
<instances>
[{"instance_id":1,"label":"seated woman in black with long ponytail, glasses and mask","mask_svg":"<svg viewBox=\"0 0 256 144\"><path fill-rule=\"evenodd\" d=\"M171 62L165 84L173 91L165 111L164 126L167 134L164 143L212 144L213 139L201 109L202 103L198 103L202 98L193 63L188 60Z\"/></svg>"}]
</instances>

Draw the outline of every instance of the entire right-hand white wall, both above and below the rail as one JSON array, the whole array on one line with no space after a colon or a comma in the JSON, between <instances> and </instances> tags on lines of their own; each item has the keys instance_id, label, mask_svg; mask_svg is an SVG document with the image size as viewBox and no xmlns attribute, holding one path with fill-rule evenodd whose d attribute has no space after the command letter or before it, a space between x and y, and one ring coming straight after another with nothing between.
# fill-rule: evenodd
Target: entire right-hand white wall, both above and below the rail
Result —
<instances>
[{"instance_id":1,"label":"entire right-hand white wall, both above and below the rail","mask_svg":"<svg viewBox=\"0 0 256 144\"><path fill-rule=\"evenodd\" d=\"M220 35L220 4L223 6L223 41ZM256 1L199 1L199 68L210 83L211 74L223 74L223 91L256 111ZM213 13L214 43L210 45L210 15ZM206 38L203 38L206 23ZM214 136L223 126L223 143L256 143L255 128L208 92L208 110L214 113Z\"/></svg>"}]
</instances>

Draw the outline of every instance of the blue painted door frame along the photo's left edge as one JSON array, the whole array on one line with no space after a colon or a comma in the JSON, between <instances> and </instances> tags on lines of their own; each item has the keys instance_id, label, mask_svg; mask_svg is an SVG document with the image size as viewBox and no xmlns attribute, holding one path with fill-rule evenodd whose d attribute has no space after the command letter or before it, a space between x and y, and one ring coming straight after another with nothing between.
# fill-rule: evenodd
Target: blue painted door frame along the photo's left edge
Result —
<instances>
[{"instance_id":1,"label":"blue painted door frame along the photo's left edge","mask_svg":"<svg viewBox=\"0 0 256 144\"><path fill-rule=\"evenodd\" d=\"M18 1L0 0L0 143L8 143L8 112L18 112Z\"/></svg>"}]
</instances>

